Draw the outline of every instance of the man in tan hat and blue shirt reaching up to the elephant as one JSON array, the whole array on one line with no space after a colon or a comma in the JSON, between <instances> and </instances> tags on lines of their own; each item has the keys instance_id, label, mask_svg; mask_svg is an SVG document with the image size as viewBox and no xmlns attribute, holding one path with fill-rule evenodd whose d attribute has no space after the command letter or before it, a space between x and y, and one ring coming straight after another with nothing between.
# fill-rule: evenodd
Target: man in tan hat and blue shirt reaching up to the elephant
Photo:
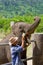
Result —
<instances>
[{"instance_id":1,"label":"man in tan hat and blue shirt reaching up to the elephant","mask_svg":"<svg viewBox=\"0 0 43 65\"><path fill-rule=\"evenodd\" d=\"M17 45L18 37L11 37L9 39L11 45L11 58L12 58L12 65L24 65L20 58L20 52L22 52L25 48L25 34L22 35L22 44L21 46Z\"/></svg>"}]
</instances>

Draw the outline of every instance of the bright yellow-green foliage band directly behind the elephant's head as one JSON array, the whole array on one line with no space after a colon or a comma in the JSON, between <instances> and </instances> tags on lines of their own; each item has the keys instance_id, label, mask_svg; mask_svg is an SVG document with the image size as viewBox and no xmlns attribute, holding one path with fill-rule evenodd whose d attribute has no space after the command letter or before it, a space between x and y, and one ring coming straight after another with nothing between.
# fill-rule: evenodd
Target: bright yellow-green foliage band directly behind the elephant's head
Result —
<instances>
[{"instance_id":1,"label":"bright yellow-green foliage band directly behind the elephant's head","mask_svg":"<svg viewBox=\"0 0 43 65\"><path fill-rule=\"evenodd\" d=\"M39 16L41 18L41 22L39 24L39 26L37 27L37 29L35 30L35 32L43 32L43 15ZM33 18L34 16L16 16L14 18L0 18L0 32L5 32L5 34L10 33L11 28L10 28L10 22L14 21L14 22L26 22L26 23L34 23L33 22Z\"/></svg>"}]
</instances>

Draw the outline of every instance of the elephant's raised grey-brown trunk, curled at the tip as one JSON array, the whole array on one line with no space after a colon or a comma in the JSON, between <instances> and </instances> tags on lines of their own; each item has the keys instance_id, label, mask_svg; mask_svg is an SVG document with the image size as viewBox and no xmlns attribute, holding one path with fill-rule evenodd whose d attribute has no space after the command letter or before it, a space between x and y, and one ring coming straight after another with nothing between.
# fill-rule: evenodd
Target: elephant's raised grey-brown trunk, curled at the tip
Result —
<instances>
[{"instance_id":1,"label":"elephant's raised grey-brown trunk, curled at the tip","mask_svg":"<svg viewBox=\"0 0 43 65\"><path fill-rule=\"evenodd\" d=\"M37 28L37 26L39 25L40 21L41 21L41 19L36 16L34 18L34 23L28 28L26 34L32 34L35 31L35 29Z\"/></svg>"}]
</instances>

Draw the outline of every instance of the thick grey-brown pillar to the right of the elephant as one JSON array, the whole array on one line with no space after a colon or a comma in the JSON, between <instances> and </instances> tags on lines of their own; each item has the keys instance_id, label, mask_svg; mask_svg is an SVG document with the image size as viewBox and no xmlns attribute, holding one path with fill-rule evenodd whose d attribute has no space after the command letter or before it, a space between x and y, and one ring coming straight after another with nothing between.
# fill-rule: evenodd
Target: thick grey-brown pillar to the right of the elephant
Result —
<instances>
[{"instance_id":1,"label":"thick grey-brown pillar to the right of the elephant","mask_svg":"<svg viewBox=\"0 0 43 65\"><path fill-rule=\"evenodd\" d=\"M36 43L32 42L33 65L43 65L43 34L33 34L32 39L36 41Z\"/></svg>"}]
</instances>

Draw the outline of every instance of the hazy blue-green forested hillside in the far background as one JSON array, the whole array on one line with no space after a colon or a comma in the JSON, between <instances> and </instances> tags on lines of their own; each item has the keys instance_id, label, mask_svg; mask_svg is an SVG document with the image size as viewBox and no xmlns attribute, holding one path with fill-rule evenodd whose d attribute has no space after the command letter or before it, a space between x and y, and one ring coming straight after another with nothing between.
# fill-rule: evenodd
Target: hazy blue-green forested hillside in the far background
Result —
<instances>
[{"instance_id":1,"label":"hazy blue-green forested hillside in the far background","mask_svg":"<svg viewBox=\"0 0 43 65\"><path fill-rule=\"evenodd\" d=\"M0 0L0 17L43 14L43 0Z\"/></svg>"}]
</instances>

